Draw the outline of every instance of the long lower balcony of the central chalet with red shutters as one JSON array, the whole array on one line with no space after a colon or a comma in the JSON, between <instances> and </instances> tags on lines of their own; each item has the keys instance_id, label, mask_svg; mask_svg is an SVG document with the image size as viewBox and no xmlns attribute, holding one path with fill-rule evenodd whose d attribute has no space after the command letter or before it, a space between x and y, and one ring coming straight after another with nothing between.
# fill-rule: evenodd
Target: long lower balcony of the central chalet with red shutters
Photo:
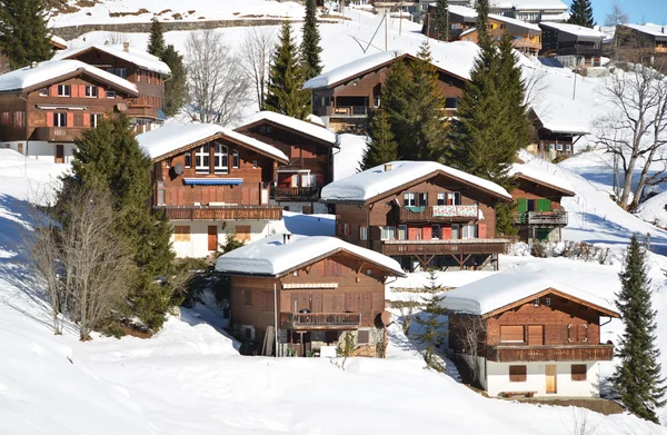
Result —
<instances>
[{"instance_id":1,"label":"long lower balcony of the central chalet with red shutters","mask_svg":"<svg viewBox=\"0 0 667 435\"><path fill-rule=\"evenodd\" d=\"M388 256L505 254L508 243L507 239L384 240L380 251Z\"/></svg>"}]
</instances>

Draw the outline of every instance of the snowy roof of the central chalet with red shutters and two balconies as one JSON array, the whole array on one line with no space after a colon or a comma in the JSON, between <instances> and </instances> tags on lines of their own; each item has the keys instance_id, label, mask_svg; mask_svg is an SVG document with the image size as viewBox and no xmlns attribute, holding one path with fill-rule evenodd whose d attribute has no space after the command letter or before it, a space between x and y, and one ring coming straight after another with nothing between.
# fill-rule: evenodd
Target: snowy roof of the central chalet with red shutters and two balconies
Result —
<instances>
[{"instance_id":1,"label":"snowy roof of the central chalet with red shutters and two balconies","mask_svg":"<svg viewBox=\"0 0 667 435\"><path fill-rule=\"evenodd\" d=\"M389 165L391 169L386 170L385 168ZM507 190L492 181L435 161L400 160L376 166L375 168L334 181L322 188L321 199L331 202L366 201L435 172L446 174L462 182L477 186L496 196L511 200L511 196Z\"/></svg>"}]
</instances>

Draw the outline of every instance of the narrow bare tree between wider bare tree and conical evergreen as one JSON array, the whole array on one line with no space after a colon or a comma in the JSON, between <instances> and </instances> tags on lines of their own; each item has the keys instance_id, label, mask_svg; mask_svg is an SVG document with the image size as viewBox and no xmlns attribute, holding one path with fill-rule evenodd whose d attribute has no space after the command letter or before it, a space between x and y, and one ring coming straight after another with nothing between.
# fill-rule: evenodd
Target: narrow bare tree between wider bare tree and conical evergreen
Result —
<instances>
[{"instance_id":1,"label":"narrow bare tree between wider bare tree and conical evergreen","mask_svg":"<svg viewBox=\"0 0 667 435\"><path fill-rule=\"evenodd\" d=\"M267 82L269 80L269 66L276 34L270 28L253 28L248 33L240 51L241 67L246 77L255 83L255 92L259 110L265 110Z\"/></svg>"}]
</instances>

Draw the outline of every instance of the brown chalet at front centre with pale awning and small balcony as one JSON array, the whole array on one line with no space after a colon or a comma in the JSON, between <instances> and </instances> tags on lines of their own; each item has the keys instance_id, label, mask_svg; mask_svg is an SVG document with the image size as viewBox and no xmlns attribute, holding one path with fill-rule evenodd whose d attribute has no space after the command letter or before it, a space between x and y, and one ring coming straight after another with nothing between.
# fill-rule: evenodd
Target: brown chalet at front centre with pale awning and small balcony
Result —
<instances>
[{"instance_id":1,"label":"brown chalet at front centre with pale awning and small balcony","mask_svg":"<svg viewBox=\"0 0 667 435\"><path fill-rule=\"evenodd\" d=\"M216 270L231 277L235 334L257 353L277 356L335 355L344 332L354 334L357 354L376 356L385 281L404 276L381 254L335 237L290 234L225 254Z\"/></svg>"}]
</instances>

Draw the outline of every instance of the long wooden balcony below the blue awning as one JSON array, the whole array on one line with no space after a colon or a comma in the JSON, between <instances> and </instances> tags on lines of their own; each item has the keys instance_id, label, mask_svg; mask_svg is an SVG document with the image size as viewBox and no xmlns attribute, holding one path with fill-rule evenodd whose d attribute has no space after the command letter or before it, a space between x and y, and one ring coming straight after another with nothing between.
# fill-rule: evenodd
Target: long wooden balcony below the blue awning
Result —
<instances>
[{"instance_id":1,"label":"long wooden balcony below the blue awning","mask_svg":"<svg viewBox=\"0 0 667 435\"><path fill-rule=\"evenodd\" d=\"M171 220L280 220L282 208L272 206L168 207L156 206Z\"/></svg>"}]
</instances>

